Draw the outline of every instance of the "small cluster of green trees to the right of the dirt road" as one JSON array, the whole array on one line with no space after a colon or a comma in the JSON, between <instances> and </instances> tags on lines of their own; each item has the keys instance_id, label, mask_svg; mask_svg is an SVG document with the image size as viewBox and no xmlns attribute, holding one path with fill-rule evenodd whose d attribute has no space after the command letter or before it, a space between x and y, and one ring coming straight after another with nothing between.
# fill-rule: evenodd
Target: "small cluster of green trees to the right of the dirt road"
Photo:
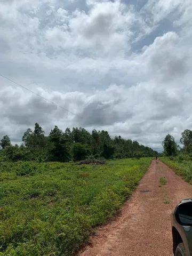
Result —
<instances>
[{"instance_id":1,"label":"small cluster of green trees to the right of the dirt road","mask_svg":"<svg viewBox=\"0 0 192 256\"><path fill-rule=\"evenodd\" d=\"M171 134L167 134L162 142L164 155L175 156L179 153L192 154L192 130L186 129L181 133L180 143L183 145L183 148L177 145Z\"/></svg>"}]
</instances>

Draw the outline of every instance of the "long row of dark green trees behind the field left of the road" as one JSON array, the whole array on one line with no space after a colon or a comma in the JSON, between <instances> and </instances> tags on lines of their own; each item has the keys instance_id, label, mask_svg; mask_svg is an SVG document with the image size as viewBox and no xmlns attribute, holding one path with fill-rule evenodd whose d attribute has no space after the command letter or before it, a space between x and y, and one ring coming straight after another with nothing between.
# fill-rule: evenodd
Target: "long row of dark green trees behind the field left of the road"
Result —
<instances>
[{"instance_id":1,"label":"long row of dark green trees behind the field left of the road","mask_svg":"<svg viewBox=\"0 0 192 256\"><path fill-rule=\"evenodd\" d=\"M91 133L82 127L67 128L65 132L54 126L48 136L42 127L35 123L34 130L27 129L21 146L11 145L5 135L1 140L1 154L8 161L80 161L85 158L125 158L156 156L158 153L138 141L111 138L107 131L93 130Z\"/></svg>"}]
</instances>

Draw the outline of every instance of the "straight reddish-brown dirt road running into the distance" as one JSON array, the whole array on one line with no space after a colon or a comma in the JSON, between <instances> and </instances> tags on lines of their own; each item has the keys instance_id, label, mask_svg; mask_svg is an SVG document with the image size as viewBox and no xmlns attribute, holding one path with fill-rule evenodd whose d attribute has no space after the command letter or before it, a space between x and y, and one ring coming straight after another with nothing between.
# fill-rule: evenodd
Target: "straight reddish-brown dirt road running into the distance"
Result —
<instances>
[{"instance_id":1,"label":"straight reddish-brown dirt road running into the distance","mask_svg":"<svg viewBox=\"0 0 192 256\"><path fill-rule=\"evenodd\" d=\"M161 177L166 178L166 185L159 183ZM154 160L121 212L97 230L91 245L79 255L173 255L170 213L189 197L192 186Z\"/></svg>"}]
</instances>

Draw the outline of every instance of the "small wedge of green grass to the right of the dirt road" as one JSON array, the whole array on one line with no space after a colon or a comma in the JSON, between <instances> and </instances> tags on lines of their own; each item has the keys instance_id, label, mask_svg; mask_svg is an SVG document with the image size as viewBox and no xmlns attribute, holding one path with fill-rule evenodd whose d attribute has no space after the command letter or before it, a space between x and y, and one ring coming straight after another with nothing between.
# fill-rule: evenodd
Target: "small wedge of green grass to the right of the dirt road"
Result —
<instances>
[{"instance_id":1,"label":"small wedge of green grass to the right of the dirt road","mask_svg":"<svg viewBox=\"0 0 192 256\"><path fill-rule=\"evenodd\" d=\"M161 157L161 161L171 167L185 181L192 184L192 157L190 155Z\"/></svg>"}]
</instances>

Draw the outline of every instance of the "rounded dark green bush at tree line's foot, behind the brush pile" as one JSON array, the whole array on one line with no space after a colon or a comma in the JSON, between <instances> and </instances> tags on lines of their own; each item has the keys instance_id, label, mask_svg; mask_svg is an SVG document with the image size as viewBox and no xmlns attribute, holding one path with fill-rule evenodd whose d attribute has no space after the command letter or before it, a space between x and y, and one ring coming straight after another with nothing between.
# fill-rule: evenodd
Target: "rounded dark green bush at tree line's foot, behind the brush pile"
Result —
<instances>
[{"instance_id":1,"label":"rounded dark green bush at tree line's foot, behind the brush pile","mask_svg":"<svg viewBox=\"0 0 192 256\"><path fill-rule=\"evenodd\" d=\"M91 154L90 148L82 143L74 143L73 145L73 159L79 161L85 159Z\"/></svg>"}]
</instances>

